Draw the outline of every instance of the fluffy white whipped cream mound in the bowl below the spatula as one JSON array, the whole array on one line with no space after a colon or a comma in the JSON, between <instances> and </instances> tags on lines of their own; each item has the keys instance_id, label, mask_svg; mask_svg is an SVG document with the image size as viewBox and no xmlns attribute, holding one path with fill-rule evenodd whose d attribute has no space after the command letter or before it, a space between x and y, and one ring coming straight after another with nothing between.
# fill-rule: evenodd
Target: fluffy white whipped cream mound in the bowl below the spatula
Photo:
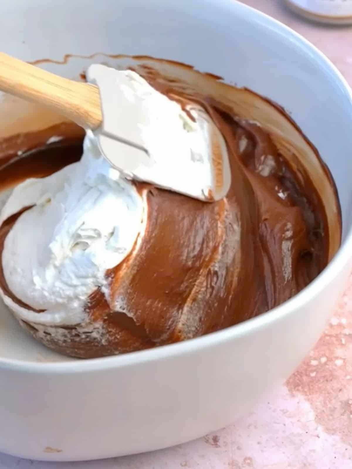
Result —
<instances>
[{"instance_id":1,"label":"fluffy white whipped cream mound in the bowl below the spatula","mask_svg":"<svg viewBox=\"0 0 352 469\"><path fill-rule=\"evenodd\" d=\"M25 207L2 253L10 291L38 314L4 302L23 320L73 325L86 318L89 295L108 298L107 269L130 253L146 211L135 185L101 155L90 131L82 159L43 179L28 179L12 192L0 224Z\"/></svg>"}]
</instances>

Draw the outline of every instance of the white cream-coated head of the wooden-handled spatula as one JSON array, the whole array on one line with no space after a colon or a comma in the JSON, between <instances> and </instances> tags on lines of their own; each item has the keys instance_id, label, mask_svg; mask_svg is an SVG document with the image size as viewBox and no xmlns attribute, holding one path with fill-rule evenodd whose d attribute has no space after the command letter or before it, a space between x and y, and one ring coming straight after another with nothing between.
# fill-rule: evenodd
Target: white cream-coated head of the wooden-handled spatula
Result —
<instances>
[{"instance_id":1,"label":"white cream-coated head of the wooden-handled spatula","mask_svg":"<svg viewBox=\"0 0 352 469\"><path fill-rule=\"evenodd\" d=\"M203 108L190 106L193 121L130 70L94 64L87 80L100 92L103 122L94 130L100 150L125 177L207 202L227 194L226 142Z\"/></svg>"}]
</instances>

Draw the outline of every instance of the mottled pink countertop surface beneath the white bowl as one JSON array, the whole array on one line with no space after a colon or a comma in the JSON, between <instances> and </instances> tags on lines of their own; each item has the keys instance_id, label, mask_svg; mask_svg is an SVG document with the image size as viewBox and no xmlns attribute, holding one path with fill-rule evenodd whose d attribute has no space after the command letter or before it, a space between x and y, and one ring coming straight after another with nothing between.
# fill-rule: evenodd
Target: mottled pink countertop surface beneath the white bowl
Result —
<instances>
[{"instance_id":1,"label":"mottled pink countertop surface beneath the white bowl","mask_svg":"<svg viewBox=\"0 0 352 469\"><path fill-rule=\"evenodd\" d=\"M307 23L282 0L245 0L318 46L352 85L352 27ZM351 265L352 269L352 265ZM0 454L0 469L352 468L352 280L318 344L287 381L236 424L202 439L106 461L45 463Z\"/></svg>"}]
</instances>

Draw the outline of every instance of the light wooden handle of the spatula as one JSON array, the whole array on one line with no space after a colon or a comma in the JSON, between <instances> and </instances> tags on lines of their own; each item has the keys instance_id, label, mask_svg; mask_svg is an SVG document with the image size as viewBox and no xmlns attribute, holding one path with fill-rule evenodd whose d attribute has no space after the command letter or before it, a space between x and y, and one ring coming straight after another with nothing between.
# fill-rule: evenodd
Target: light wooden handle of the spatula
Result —
<instances>
[{"instance_id":1,"label":"light wooden handle of the spatula","mask_svg":"<svg viewBox=\"0 0 352 469\"><path fill-rule=\"evenodd\" d=\"M65 115L78 125L96 129L102 121L99 89L76 82L0 53L0 90Z\"/></svg>"}]
</instances>

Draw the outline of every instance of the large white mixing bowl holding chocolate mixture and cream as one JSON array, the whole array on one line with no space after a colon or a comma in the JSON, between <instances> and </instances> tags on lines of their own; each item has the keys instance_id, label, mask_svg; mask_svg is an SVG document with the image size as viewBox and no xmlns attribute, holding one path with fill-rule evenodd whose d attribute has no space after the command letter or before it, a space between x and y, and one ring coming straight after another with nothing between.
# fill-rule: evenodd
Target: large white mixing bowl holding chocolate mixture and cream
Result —
<instances>
[{"instance_id":1,"label":"large white mixing bowl holding chocolate mixture and cream","mask_svg":"<svg viewBox=\"0 0 352 469\"><path fill-rule=\"evenodd\" d=\"M64 76L103 60L64 60L67 53L146 54L251 88L284 106L328 163L343 245L299 295L257 318L184 343L78 361L35 343L1 306L0 451L50 461L106 458L229 424L298 366L348 277L351 90L314 46L234 0L2 0L0 16L5 52L58 61L42 66ZM0 136L55 120L6 97L0 119Z\"/></svg>"}]
</instances>

